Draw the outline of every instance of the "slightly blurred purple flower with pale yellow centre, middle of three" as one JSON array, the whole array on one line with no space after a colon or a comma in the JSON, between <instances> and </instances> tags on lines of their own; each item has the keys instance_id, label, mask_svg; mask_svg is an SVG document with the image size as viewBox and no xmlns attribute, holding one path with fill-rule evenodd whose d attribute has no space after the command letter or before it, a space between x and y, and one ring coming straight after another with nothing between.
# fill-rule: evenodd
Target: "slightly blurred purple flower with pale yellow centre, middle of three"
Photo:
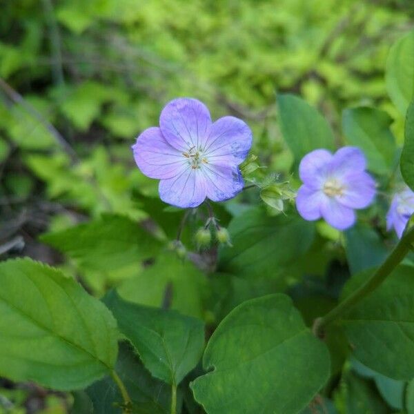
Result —
<instances>
[{"instance_id":1,"label":"slightly blurred purple flower with pale yellow centre, middle of three","mask_svg":"<svg viewBox=\"0 0 414 414\"><path fill-rule=\"evenodd\" d=\"M306 220L323 217L338 230L351 227L354 209L368 207L375 197L375 181L365 168L359 148L344 147L333 155L322 149L309 152L299 165L304 184L297 192L297 211Z\"/></svg>"}]
</instances>

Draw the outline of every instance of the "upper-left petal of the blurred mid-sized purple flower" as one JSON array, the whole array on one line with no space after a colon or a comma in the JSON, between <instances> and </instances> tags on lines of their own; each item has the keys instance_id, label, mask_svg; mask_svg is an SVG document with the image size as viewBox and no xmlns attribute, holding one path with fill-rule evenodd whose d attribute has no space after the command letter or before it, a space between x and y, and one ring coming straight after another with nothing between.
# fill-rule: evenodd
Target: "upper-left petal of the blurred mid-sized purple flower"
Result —
<instances>
[{"instance_id":1,"label":"upper-left petal of the blurred mid-sized purple flower","mask_svg":"<svg viewBox=\"0 0 414 414\"><path fill-rule=\"evenodd\" d=\"M320 188L326 178L333 155L328 150L314 150L306 154L299 164L299 177L304 184Z\"/></svg>"}]
</instances>

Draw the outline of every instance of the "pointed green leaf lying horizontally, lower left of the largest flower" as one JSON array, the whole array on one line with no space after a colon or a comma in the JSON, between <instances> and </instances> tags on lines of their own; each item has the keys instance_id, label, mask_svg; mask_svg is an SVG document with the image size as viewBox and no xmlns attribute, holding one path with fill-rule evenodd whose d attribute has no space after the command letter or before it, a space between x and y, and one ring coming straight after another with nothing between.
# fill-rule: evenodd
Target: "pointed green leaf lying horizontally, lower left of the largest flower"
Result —
<instances>
[{"instance_id":1,"label":"pointed green leaf lying horizontally, lower left of the largest flower","mask_svg":"<svg viewBox=\"0 0 414 414\"><path fill-rule=\"evenodd\" d=\"M119 270L157 254L161 244L137 222L119 215L41 235L42 242L73 259L84 270Z\"/></svg>"}]
</instances>

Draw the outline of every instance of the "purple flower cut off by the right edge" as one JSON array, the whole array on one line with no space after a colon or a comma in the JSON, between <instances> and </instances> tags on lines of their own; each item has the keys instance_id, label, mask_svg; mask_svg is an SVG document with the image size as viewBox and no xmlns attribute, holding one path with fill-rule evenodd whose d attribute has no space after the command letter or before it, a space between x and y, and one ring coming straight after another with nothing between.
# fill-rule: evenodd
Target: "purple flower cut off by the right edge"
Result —
<instances>
[{"instance_id":1,"label":"purple flower cut off by the right edge","mask_svg":"<svg viewBox=\"0 0 414 414\"><path fill-rule=\"evenodd\" d=\"M397 236L401 238L408 219L414 213L414 193L406 187L396 193L391 201L390 209L386 215L386 229L394 228Z\"/></svg>"}]
</instances>

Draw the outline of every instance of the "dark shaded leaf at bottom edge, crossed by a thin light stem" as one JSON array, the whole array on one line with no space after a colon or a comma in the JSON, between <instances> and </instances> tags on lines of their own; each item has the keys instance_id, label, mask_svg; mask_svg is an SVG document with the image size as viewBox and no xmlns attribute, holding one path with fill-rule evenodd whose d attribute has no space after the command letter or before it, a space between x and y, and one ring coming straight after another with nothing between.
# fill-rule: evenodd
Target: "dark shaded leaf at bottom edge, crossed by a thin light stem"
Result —
<instances>
[{"instance_id":1,"label":"dark shaded leaf at bottom edge, crossed by a thin light stem","mask_svg":"<svg viewBox=\"0 0 414 414\"><path fill-rule=\"evenodd\" d=\"M132 346L126 342L119 344L115 370L131 397L134 413L169 413L170 386L152 377L139 361L139 357L134 355ZM86 388L86 393L92 400L94 414L122 414L119 406L122 403L122 396L111 377L95 382ZM177 405L181 406L181 401Z\"/></svg>"}]
</instances>

